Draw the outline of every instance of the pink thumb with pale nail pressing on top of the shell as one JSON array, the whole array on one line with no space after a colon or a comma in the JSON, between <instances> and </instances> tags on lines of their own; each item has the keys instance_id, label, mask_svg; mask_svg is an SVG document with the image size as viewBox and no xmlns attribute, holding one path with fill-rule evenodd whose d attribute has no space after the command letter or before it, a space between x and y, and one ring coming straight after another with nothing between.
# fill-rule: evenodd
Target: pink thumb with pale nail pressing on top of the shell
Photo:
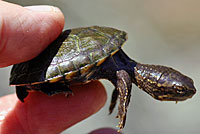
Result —
<instances>
[{"instance_id":1,"label":"pink thumb with pale nail pressing on top of the shell","mask_svg":"<svg viewBox=\"0 0 200 134\"><path fill-rule=\"evenodd\" d=\"M63 27L64 16L58 8L24 8L0 1L0 67L37 56Z\"/></svg>"}]
</instances>

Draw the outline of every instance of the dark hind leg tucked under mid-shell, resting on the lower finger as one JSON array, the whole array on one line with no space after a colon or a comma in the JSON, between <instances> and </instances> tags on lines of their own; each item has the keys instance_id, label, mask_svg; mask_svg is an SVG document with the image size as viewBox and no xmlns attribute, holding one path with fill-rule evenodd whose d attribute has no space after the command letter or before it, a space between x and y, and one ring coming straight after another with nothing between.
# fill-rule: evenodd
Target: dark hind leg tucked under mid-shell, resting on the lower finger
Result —
<instances>
[{"instance_id":1,"label":"dark hind leg tucked under mid-shell, resting on the lower finger","mask_svg":"<svg viewBox=\"0 0 200 134\"><path fill-rule=\"evenodd\" d=\"M72 90L65 83L43 83L40 86L40 91L47 94L48 96L59 93L64 93L66 96L68 96L69 94L73 95Z\"/></svg>"}]
</instances>

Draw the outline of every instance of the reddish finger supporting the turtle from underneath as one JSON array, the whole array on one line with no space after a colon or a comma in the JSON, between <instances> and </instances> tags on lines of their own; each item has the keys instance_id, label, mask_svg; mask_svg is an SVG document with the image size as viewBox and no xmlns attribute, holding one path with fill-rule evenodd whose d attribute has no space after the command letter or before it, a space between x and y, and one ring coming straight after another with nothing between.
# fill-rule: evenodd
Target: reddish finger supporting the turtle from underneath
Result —
<instances>
[{"instance_id":1,"label":"reddish finger supporting the turtle from underneath","mask_svg":"<svg viewBox=\"0 0 200 134\"><path fill-rule=\"evenodd\" d=\"M98 81L71 89L74 96L68 98L63 94L49 97L33 92L25 103L17 101L2 122L1 133L57 134L96 113L105 104L106 92Z\"/></svg>"}]
</instances>

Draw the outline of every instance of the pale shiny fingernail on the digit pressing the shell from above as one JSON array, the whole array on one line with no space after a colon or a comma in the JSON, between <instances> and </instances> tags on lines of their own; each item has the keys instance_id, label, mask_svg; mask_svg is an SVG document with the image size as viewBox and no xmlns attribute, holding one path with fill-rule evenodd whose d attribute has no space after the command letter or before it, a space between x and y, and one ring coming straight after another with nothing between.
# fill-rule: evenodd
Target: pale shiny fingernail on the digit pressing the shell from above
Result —
<instances>
[{"instance_id":1,"label":"pale shiny fingernail on the digit pressing the shell from above","mask_svg":"<svg viewBox=\"0 0 200 134\"><path fill-rule=\"evenodd\" d=\"M26 6L25 8L38 12L60 12L59 8L48 5Z\"/></svg>"}]
</instances>

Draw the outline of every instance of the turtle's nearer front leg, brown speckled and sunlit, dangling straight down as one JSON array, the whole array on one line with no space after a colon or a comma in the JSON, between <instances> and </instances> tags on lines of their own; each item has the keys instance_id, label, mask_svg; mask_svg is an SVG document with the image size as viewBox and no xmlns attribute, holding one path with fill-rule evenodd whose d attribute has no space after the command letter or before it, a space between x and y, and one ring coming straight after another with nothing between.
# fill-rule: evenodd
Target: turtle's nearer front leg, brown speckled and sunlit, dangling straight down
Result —
<instances>
[{"instance_id":1,"label":"turtle's nearer front leg, brown speckled and sunlit, dangling straight down","mask_svg":"<svg viewBox=\"0 0 200 134\"><path fill-rule=\"evenodd\" d=\"M117 118L119 118L118 127L120 128L120 130L122 130L126 122L127 108L131 98L132 82L129 74L125 70L117 71L116 76L117 76L117 90L119 92L119 105L118 105Z\"/></svg>"}]
</instances>

